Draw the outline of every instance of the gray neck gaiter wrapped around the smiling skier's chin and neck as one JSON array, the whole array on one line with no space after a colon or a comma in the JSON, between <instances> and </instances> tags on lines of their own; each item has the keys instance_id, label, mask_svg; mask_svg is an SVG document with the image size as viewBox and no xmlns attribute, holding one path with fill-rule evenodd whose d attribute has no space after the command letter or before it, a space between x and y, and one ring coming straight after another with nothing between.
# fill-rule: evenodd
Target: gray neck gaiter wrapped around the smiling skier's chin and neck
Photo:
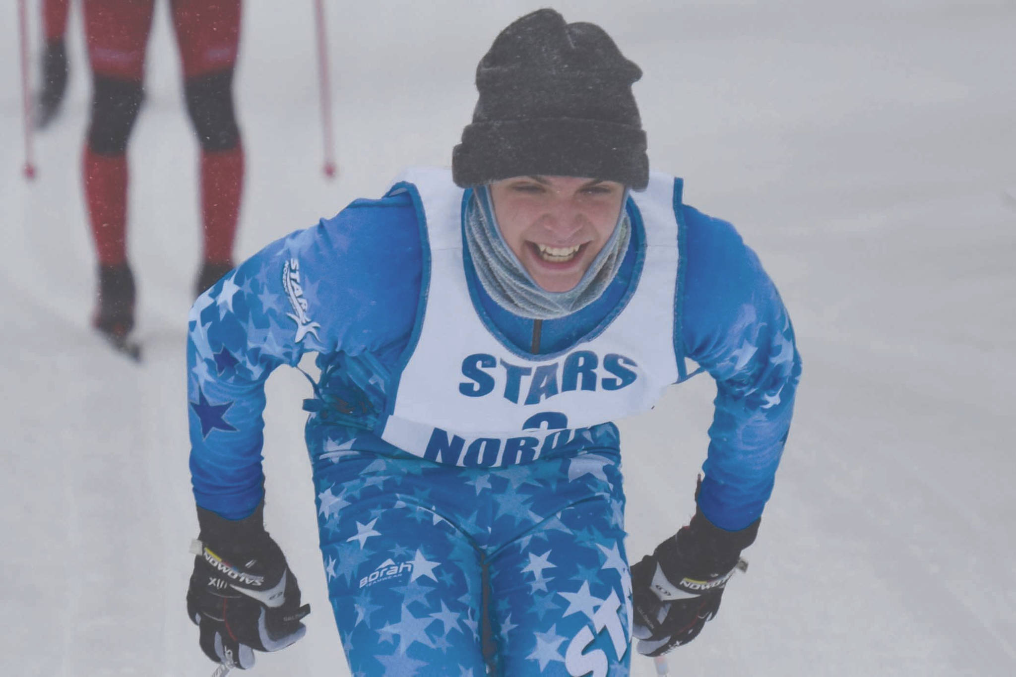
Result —
<instances>
[{"instance_id":1,"label":"gray neck gaiter wrapped around the smiling skier's chin and neck","mask_svg":"<svg viewBox=\"0 0 1016 677\"><path fill-rule=\"evenodd\" d=\"M604 293L628 252L631 221L623 206L627 201L626 191L611 239L579 283L568 291L547 291L502 238L487 186L477 187L465 210L465 242L481 284L498 306L529 320L556 320L585 308Z\"/></svg>"}]
</instances>

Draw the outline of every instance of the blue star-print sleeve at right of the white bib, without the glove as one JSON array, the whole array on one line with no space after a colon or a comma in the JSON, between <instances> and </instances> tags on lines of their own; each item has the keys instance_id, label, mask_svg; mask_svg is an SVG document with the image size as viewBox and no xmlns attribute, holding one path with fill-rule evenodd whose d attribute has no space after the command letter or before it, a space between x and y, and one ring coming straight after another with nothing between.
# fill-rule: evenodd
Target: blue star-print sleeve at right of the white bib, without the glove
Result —
<instances>
[{"instance_id":1,"label":"blue star-print sleeve at right of the white bib, without the glove","mask_svg":"<svg viewBox=\"0 0 1016 677\"><path fill-rule=\"evenodd\" d=\"M734 226L685 208L682 337L716 381L702 513L728 531L762 515L786 442L801 377L789 316Z\"/></svg>"}]
</instances>

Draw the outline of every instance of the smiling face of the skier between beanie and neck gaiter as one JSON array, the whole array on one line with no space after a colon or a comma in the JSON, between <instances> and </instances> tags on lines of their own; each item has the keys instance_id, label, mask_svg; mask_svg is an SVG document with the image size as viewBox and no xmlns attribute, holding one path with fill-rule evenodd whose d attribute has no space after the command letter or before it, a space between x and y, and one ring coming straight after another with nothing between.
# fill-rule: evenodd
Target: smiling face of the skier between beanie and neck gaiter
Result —
<instances>
[{"instance_id":1,"label":"smiling face of the skier between beanie and neck gaiter","mask_svg":"<svg viewBox=\"0 0 1016 677\"><path fill-rule=\"evenodd\" d=\"M576 177L513 177L491 184L501 236L547 291L582 279L614 232L625 188Z\"/></svg>"}]
</instances>

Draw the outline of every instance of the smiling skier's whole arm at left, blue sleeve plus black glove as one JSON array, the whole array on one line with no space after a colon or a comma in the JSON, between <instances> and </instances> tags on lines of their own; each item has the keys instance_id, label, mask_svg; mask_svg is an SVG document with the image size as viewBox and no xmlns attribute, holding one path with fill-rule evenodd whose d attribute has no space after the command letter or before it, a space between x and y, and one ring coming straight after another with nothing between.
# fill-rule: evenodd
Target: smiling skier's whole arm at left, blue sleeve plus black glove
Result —
<instances>
[{"instance_id":1,"label":"smiling skier's whole arm at left, blue sleeve plus black glove","mask_svg":"<svg viewBox=\"0 0 1016 677\"><path fill-rule=\"evenodd\" d=\"M272 243L202 294L187 345L191 476L200 526L187 612L212 661L305 631L297 578L262 521L264 382L307 351L375 350L412 327L422 258L405 198L358 201Z\"/></svg>"}]
</instances>

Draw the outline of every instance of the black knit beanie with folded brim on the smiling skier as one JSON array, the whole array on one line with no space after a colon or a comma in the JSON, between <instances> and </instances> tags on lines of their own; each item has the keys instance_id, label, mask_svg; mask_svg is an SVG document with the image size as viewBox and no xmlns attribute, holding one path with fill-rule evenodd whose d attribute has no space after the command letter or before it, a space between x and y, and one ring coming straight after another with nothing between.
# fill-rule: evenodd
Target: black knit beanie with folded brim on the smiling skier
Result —
<instances>
[{"instance_id":1,"label":"black knit beanie with folded brim on the smiling skier","mask_svg":"<svg viewBox=\"0 0 1016 677\"><path fill-rule=\"evenodd\" d=\"M631 85L642 71L593 23L553 9L517 19L477 66L480 99L452 152L463 188L543 175L649 180L645 132Z\"/></svg>"}]
</instances>

